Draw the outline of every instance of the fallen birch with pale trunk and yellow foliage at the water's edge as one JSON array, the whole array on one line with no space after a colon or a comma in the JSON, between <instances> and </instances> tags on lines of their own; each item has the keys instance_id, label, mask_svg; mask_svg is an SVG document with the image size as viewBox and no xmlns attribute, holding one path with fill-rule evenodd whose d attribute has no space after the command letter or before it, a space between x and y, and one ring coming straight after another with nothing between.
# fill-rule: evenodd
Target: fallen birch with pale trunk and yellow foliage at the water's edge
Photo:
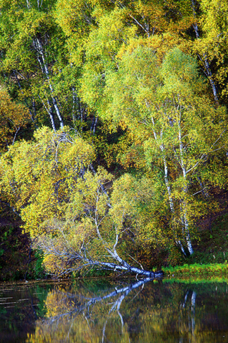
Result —
<instances>
[{"instance_id":1,"label":"fallen birch with pale trunk and yellow foliage at the water's edge","mask_svg":"<svg viewBox=\"0 0 228 343\"><path fill-rule=\"evenodd\" d=\"M84 172L74 188L68 189L71 196L65 206L61 204L64 216L43 221L38 230L43 227L44 231L36 246L44 252L49 272L63 276L81 269L100 269L162 277L162 271L145 270L137 262L137 254L130 256L130 245L135 244L140 228L135 228L133 205L119 201L118 190L117 198L113 193L112 175L103 169Z\"/></svg>"}]
</instances>

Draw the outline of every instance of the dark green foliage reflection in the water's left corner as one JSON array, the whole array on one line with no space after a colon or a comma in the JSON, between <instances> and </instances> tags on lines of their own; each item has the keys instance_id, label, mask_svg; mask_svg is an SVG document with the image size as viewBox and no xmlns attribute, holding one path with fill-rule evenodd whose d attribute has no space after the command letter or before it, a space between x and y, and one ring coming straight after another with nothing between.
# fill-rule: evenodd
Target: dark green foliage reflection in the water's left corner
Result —
<instances>
[{"instance_id":1,"label":"dark green foliage reflection in the water's left corner","mask_svg":"<svg viewBox=\"0 0 228 343\"><path fill-rule=\"evenodd\" d=\"M35 320L46 315L50 288L48 283L37 282L0 285L0 342L9 342L9 338L10 342L25 342L26 333L34 331Z\"/></svg>"}]
</instances>

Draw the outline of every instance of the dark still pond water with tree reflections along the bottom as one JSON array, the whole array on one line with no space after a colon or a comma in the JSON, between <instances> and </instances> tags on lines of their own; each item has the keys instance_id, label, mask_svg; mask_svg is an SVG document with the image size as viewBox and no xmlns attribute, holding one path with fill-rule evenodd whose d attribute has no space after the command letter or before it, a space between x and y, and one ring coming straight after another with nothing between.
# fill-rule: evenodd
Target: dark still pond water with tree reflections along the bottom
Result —
<instances>
[{"instance_id":1,"label":"dark still pond water with tree reflections along the bottom","mask_svg":"<svg viewBox=\"0 0 228 343\"><path fill-rule=\"evenodd\" d=\"M228 342L228 283L2 283L0 342Z\"/></svg>"}]
</instances>

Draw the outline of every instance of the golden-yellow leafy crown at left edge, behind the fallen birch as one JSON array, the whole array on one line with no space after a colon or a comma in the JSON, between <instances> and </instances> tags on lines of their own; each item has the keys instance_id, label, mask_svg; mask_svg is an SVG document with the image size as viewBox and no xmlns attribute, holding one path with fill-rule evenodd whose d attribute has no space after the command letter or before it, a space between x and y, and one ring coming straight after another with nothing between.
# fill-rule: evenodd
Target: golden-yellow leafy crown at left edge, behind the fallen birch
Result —
<instances>
[{"instance_id":1,"label":"golden-yellow leafy crown at left edge, behind the fallen birch","mask_svg":"<svg viewBox=\"0 0 228 343\"><path fill-rule=\"evenodd\" d=\"M45 230L45 221L61 218L77 178L94 158L80 137L43 127L33 142L15 144L0 161L0 188L12 207L21 211L32 236Z\"/></svg>"}]
</instances>

